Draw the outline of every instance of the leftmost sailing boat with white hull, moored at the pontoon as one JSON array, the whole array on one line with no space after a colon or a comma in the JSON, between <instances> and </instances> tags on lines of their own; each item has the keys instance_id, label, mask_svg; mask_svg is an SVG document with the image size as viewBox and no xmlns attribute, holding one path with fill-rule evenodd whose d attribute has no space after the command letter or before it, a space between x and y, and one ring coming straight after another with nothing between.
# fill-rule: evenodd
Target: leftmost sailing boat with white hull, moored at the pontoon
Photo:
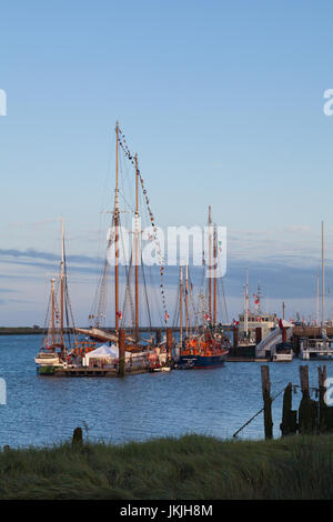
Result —
<instances>
[{"instance_id":1,"label":"leftmost sailing boat with white hull, moored at the pontoon","mask_svg":"<svg viewBox=\"0 0 333 522\"><path fill-rule=\"evenodd\" d=\"M61 230L59 284L56 288L56 278L51 279L51 292L46 319L47 335L42 340L38 355L34 358L37 371L40 374L54 374L68 365L72 354L78 354L83 348L84 350L88 349L88 343L80 343L73 333L74 321L68 292L63 219Z\"/></svg>"}]
</instances>

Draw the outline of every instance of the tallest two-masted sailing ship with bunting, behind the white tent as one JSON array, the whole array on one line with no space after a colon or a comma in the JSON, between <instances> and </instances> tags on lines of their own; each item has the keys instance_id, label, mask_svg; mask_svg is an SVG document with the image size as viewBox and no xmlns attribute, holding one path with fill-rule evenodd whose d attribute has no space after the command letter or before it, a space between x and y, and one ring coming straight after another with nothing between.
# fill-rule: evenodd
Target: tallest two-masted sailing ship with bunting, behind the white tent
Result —
<instances>
[{"instance_id":1,"label":"tallest two-masted sailing ship with bunting, behind the white tent","mask_svg":"<svg viewBox=\"0 0 333 522\"><path fill-rule=\"evenodd\" d=\"M134 203L132 198L124 194L121 190L121 183L124 184L124 175L121 175L120 169L120 152L123 152L124 160L128 160L134 168ZM124 165L125 161L123 162ZM127 169L127 167L124 167ZM129 181L129 180L127 180ZM131 183L131 180L130 180ZM144 263L142 262L141 240L143 231L141 230L141 212L139 202L143 200L145 203L145 213L149 215L149 224L152 227L151 241L154 243L157 253L161 258L161 249L157 237L157 228L153 213L150 209L150 202L147 194L147 189L139 169L138 154L132 154L127 144L125 137L115 123L115 189L114 202L112 213L112 222L108 240L108 254L104 261L104 268L101 274L100 283L98 287L95 300L92 311L89 315L91 325L90 329L77 329L77 332L89 335L91 339L98 341L119 344L120 329L125 330L125 350L128 352L138 353L147 350L153 345L152 331L150 338L143 339L140 335L140 322L143 315L143 305L145 307L147 320L149 327L151 323L150 300L148 295L148 288L145 282ZM143 213L143 212L142 212ZM132 232L132 248L129 249L130 253L124 252L124 237L123 237L123 222L121 215L131 215L133 218L133 232ZM128 263L121 263L121 258L128 259ZM110 259L112 258L112 259ZM122 264L124 264L122 267ZM111 270L110 267L113 267ZM141 278L140 278L141 275ZM165 305L165 295L163 290L163 265L162 259L160 262L160 284L157 285L161 292L162 307L164 309L164 320L168 321L168 312ZM108 305L110 279L113 280L113 313L114 313L114 328L107 328L105 320L109 317ZM123 284L121 284L123 282ZM140 299L140 293L142 299ZM123 299L123 301L122 301ZM122 304L121 304L122 303Z\"/></svg>"}]
</instances>

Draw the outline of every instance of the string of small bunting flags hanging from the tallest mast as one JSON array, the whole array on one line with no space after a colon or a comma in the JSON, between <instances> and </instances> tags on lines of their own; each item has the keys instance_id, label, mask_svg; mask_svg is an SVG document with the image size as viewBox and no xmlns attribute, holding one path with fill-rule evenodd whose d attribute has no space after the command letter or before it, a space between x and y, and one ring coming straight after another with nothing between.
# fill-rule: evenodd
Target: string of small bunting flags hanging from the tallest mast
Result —
<instances>
[{"instance_id":1,"label":"string of small bunting flags hanging from the tallest mast","mask_svg":"<svg viewBox=\"0 0 333 522\"><path fill-rule=\"evenodd\" d=\"M131 153L131 151L130 151L130 149L127 144L125 137L124 137L124 134L123 134L123 132L120 128L119 128L119 144L122 148L122 150L124 152L124 155L135 167L134 155ZM140 172L139 169L138 169L138 175L139 175L139 179L140 179L142 193L144 195L144 200L145 200L150 222L151 222L151 225L152 225L152 229L153 229L152 239L155 242L157 254L158 254L158 258L159 258L160 277L161 277L160 292L161 292L162 307L163 307L163 311L164 311L164 321L165 321L165 324L167 324L168 320L169 320L169 313L168 313L168 310L167 310L167 299L165 299L165 293L164 293L164 278L163 278L163 275L164 275L164 265L163 265L164 264L164 259L162 257L162 250L161 250L161 244L160 244L160 241L159 241L159 233L158 233L158 227L155 225L154 214L153 214L153 212L150 208L148 191L144 187L144 181L143 181L143 178L142 178L141 172Z\"/></svg>"}]
</instances>

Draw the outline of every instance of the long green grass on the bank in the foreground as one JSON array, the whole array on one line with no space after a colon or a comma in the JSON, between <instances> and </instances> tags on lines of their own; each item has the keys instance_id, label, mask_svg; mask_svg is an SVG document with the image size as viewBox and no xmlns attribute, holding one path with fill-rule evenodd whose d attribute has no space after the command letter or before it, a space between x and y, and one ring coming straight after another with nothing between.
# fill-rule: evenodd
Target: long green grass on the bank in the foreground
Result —
<instances>
[{"instance_id":1,"label":"long green grass on the bank in the foreground","mask_svg":"<svg viewBox=\"0 0 333 522\"><path fill-rule=\"evenodd\" d=\"M0 499L333 499L333 435L0 452Z\"/></svg>"}]
</instances>

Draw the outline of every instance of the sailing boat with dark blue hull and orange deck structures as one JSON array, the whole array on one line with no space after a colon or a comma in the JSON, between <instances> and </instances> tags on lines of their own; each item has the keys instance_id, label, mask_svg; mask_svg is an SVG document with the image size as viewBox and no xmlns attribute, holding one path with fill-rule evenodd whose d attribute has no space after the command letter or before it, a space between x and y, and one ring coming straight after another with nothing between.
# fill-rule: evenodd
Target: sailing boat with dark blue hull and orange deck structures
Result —
<instances>
[{"instance_id":1,"label":"sailing boat with dark blue hull and orange deck structures","mask_svg":"<svg viewBox=\"0 0 333 522\"><path fill-rule=\"evenodd\" d=\"M211 207L209 208L209 265L212 267L212 254L214 263L218 261L218 235L216 229L212 233L212 218ZM205 263L203 263L205 264ZM194 368L208 369L218 368L224 364L229 352L229 339L223 335L223 332L218 327L216 314L216 290L218 278L208 279L208 309L202 308L202 324L196 328L196 332L191 334L189 327L189 267L185 265L185 292L183 295L183 268L180 268L180 368ZM213 289L212 289L213 279ZM185 337L183 339L183 314L182 302L184 299L185 304ZM201 297L201 302L204 304L204 299Z\"/></svg>"}]
</instances>

